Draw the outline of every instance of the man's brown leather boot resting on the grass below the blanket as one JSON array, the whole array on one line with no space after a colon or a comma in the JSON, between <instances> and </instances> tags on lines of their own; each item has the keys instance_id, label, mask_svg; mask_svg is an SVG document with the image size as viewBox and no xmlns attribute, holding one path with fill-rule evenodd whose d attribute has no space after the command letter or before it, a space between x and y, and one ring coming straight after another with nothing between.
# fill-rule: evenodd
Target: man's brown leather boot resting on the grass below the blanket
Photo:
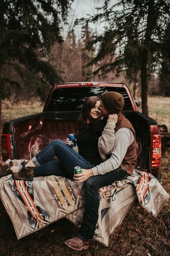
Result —
<instances>
[{"instance_id":1,"label":"man's brown leather boot resting on the grass below the blanket","mask_svg":"<svg viewBox=\"0 0 170 256\"><path fill-rule=\"evenodd\" d=\"M73 237L69 240L64 241L64 243L75 251L88 249L90 244L90 242L83 241L79 237Z\"/></svg>"}]
</instances>

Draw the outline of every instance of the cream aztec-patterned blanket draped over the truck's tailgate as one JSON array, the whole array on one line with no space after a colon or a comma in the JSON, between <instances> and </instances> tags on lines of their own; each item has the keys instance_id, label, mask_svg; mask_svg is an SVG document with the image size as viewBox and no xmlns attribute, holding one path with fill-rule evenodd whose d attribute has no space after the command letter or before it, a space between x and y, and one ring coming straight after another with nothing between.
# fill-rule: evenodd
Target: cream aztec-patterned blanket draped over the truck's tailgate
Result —
<instances>
[{"instance_id":1,"label":"cream aztec-patterned blanket draped over the truck's tailgate","mask_svg":"<svg viewBox=\"0 0 170 256\"><path fill-rule=\"evenodd\" d=\"M33 181L0 179L0 197L18 239L63 217L81 226L84 186L65 177L37 177ZM169 195L151 174L135 170L131 177L100 188L99 219L94 239L108 246L136 197L157 216Z\"/></svg>"}]
</instances>

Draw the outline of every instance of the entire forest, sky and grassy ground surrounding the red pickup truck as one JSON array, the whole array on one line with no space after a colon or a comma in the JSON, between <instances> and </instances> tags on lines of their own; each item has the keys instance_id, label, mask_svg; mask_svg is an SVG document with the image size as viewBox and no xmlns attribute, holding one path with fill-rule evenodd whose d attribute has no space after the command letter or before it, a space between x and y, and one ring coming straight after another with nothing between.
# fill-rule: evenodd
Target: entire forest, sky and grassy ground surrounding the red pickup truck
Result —
<instances>
[{"instance_id":1,"label":"entire forest, sky and grassy ground surrounding the red pickup truck","mask_svg":"<svg viewBox=\"0 0 170 256\"><path fill-rule=\"evenodd\" d=\"M4 122L41 112L54 84L75 81L126 82L139 111L170 130L169 41L168 0L0 0L0 133ZM167 142L161 170L170 193ZM63 247L76 232L66 220L17 241L0 208L0 255L76 255ZM169 212L168 202L155 219L135 203L108 248L93 242L81 255L167 256Z\"/></svg>"}]
</instances>

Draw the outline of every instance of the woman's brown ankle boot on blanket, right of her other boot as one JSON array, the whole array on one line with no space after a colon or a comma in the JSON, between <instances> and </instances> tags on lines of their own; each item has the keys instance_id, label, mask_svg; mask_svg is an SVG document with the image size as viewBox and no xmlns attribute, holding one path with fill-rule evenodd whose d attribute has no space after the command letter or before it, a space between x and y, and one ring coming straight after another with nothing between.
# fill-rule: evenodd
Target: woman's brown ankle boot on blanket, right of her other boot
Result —
<instances>
[{"instance_id":1,"label":"woman's brown ankle boot on blanket, right of her other boot","mask_svg":"<svg viewBox=\"0 0 170 256\"><path fill-rule=\"evenodd\" d=\"M22 169L19 172L13 173L13 178L16 180L30 180L34 179L34 171L32 166L25 167L23 164Z\"/></svg>"}]
</instances>

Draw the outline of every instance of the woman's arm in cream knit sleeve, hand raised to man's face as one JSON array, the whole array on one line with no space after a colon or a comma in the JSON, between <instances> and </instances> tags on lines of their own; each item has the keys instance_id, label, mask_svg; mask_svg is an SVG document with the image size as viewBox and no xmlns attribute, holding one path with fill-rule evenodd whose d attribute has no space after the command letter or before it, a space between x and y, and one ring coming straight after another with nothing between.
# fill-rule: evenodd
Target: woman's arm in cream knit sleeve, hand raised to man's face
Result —
<instances>
[{"instance_id":1,"label":"woman's arm in cream knit sleeve, hand raised to man's face","mask_svg":"<svg viewBox=\"0 0 170 256\"><path fill-rule=\"evenodd\" d=\"M99 138L98 149L102 161L105 161L107 159L107 155L113 151L115 143L114 128L117 119L117 114L109 115L104 131Z\"/></svg>"}]
</instances>

